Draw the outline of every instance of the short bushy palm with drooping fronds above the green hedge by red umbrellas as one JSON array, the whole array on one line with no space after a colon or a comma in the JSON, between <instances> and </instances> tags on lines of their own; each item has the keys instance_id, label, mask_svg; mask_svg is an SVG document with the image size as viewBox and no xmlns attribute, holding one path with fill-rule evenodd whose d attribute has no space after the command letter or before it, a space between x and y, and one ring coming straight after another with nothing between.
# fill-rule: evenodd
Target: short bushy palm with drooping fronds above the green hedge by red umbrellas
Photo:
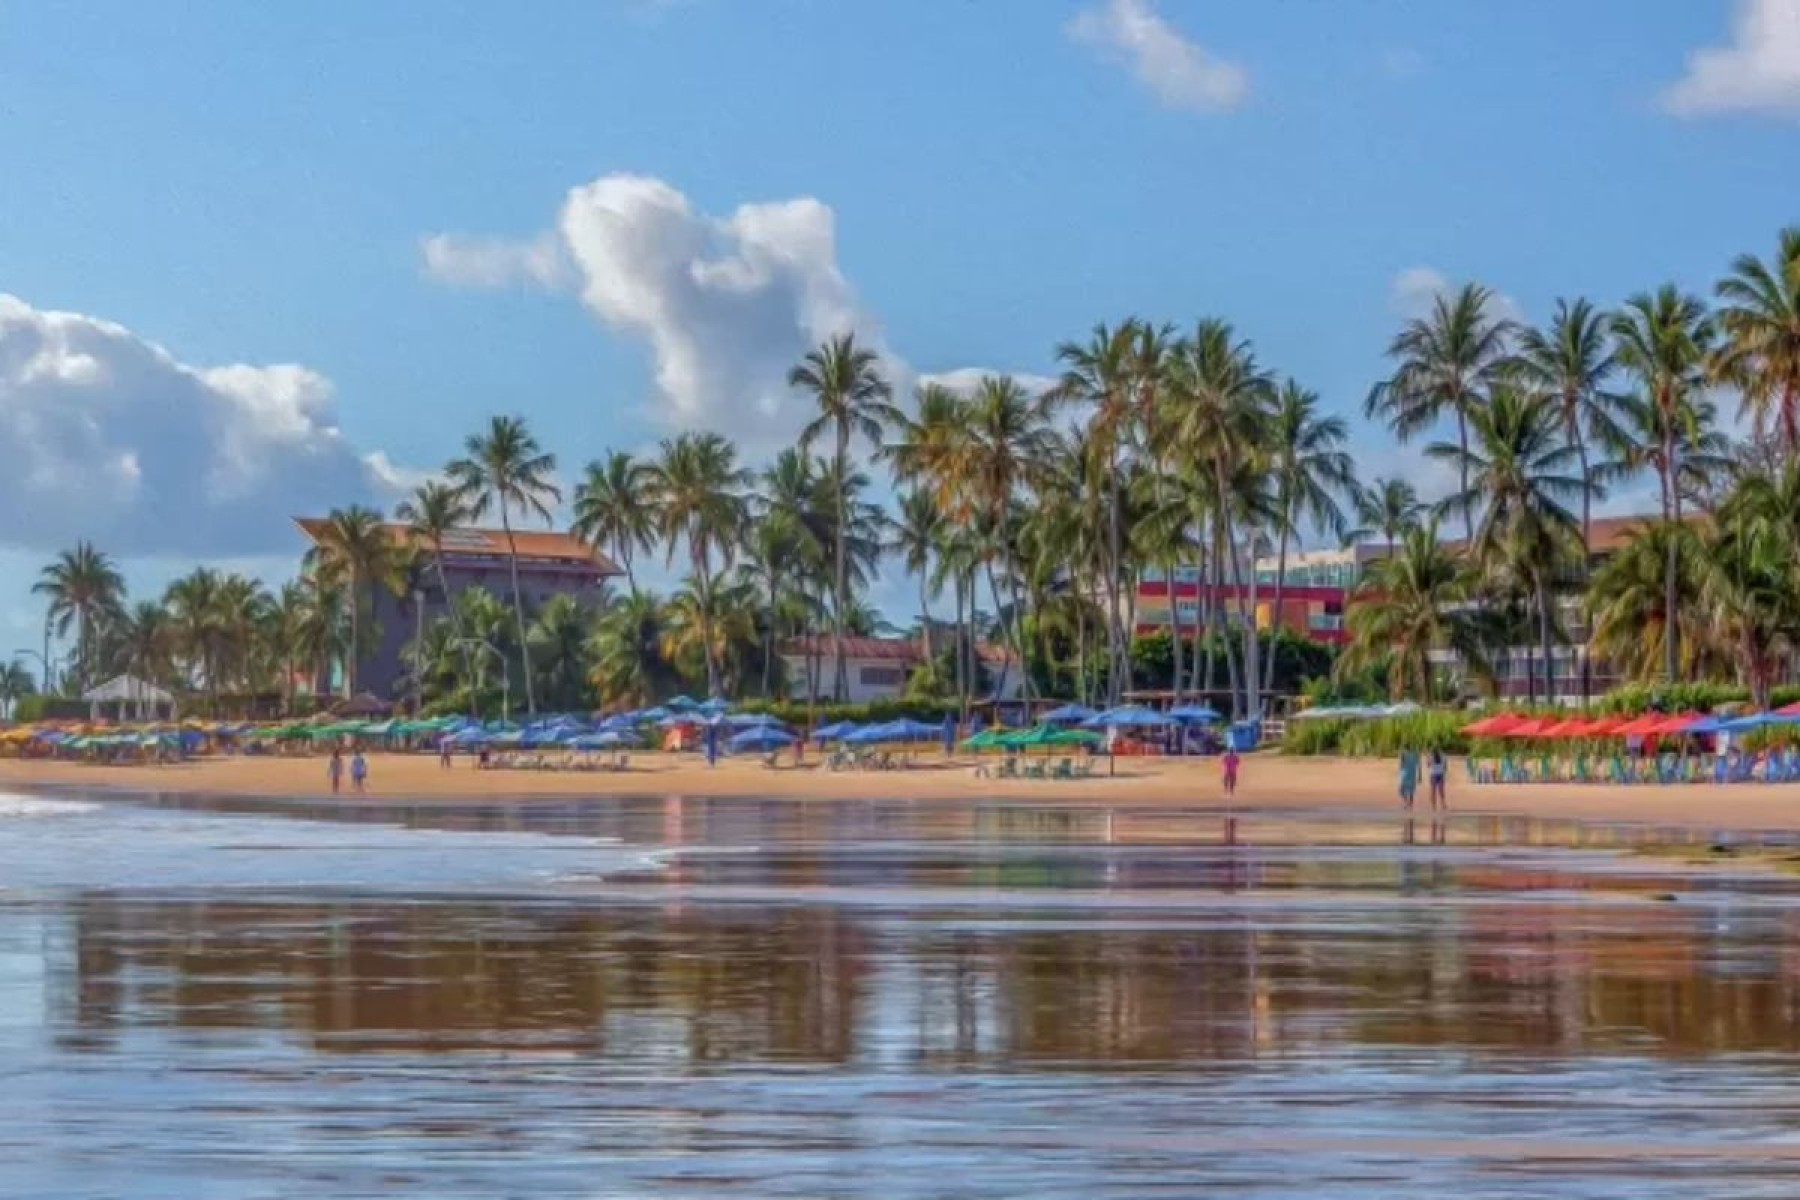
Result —
<instances>
[{"instance_id":1,"label":"short bushy palm with drooping fronds above the green hedge by red umbrellas","mask_svg":"<svg viewBox=\"0 0 1800 1200\"><path fill-rule=\"evenodd\" d=\"M1346 676L1391 660L1393 698L1413 691L1431 702L1431 651L1449 649L1465 669L1487 676L1480 617L1469 604L1471 581L1462 563L1438 542L1438 524L1409 529L1393 558L1370 563L1350 596L1345 624L1350 642L1334 667Z\"/></svg>"}]
</instances>

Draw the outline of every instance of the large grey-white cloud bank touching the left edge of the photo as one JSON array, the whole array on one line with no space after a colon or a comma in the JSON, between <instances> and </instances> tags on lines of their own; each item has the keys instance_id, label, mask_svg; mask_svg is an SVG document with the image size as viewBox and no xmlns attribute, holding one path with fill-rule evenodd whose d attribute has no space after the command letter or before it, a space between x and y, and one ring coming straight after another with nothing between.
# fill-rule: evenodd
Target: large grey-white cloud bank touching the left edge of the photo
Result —
<instances>
[{"instance_id":1,"label":"large grey-white cloud bank touching the left edge of the photo","mask_svg":"<svg viewBox=\"0 0 1800 1200\"><path fill-rule=\"evenodd\" d=\"M256 554L288 518L389 497L331 383L299 365L196 367L130 329L0 293L0 545Z\"/></svg>"}]
</instances>

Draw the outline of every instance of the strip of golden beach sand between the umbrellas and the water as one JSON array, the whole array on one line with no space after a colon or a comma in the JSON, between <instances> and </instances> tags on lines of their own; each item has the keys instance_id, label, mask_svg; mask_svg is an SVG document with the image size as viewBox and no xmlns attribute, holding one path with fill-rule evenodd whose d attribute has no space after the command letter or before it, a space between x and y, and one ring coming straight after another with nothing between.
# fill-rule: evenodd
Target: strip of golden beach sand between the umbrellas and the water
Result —
<instances>
[{"instance_id":1,"label":"strip of golden beach sand between the umbrellas and the water","mask_svg":"<svg viewBox=\"0 0 1800 1200\"><path fill-rule=\"evenodd\" d=\"M533 797L576 795L716 795L790 801L1030 801L1035 804L1204 806L1255 813L1321 815L1397 811L1395 765L1372 759L1287 759L1251 756L1238 793L1228 801L1217 761L1120 759L1116 775L1105 759L1093 779L992 779L976 774L976 759L920 754L905 770L769 768L729 759L707 766L695 756L632 756L625 772L475 770L459 757L445 770L430 754L369 756L371 793L382 799L443 802L529 802ZM317 797L328 793L320 757L218 757L169 766L97 766L79 763L0 761L0 786L124 788L241 797ZM346 786L347 790L347 786ZM1800 828L1800 783L1791 784L1472 784L1460 761L1451 765L1456 813L1647 822L1717 831ZM1418 799L1424 817L1424 795Z\"/></svg>"}]
</instances>

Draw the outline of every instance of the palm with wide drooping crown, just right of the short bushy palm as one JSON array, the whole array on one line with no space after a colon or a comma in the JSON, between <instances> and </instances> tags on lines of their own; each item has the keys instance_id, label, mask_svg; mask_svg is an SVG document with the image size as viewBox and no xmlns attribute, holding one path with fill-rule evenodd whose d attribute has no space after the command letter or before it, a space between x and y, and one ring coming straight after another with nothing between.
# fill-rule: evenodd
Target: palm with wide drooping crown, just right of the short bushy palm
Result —
<instances>
[{"instance_id":1,"label":"palm with wide drooping crown, just right of the short bushy palm","mask_svg":"<svg viewBox=\"0 0 1800 1200\"><path fill-rule=\"evenodd\" d=\"M1544 700L1555 698L1553 612L1550 594L1562 563L1575 554L1580 524L1566 507L1593 489L1580 455L1562 439L1559 398L1499 385L1469 423L1474 444L1435 443L1427 453L1456 462L1469 480L1444 511L1480 511L1469 558L1490 578L1532 596L1543 651Z\"/></svg>"}]
</instances>

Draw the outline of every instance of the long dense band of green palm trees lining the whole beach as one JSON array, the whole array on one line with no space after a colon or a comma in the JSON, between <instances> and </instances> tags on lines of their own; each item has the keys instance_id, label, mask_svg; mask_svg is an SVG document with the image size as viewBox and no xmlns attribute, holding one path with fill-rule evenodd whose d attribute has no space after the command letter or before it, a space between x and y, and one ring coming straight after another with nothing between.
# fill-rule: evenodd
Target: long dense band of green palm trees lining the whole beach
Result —
<instances>
[{"instance_id":1,"label":"long dense band of green palm trees lining the whole beach","mask_svg":"<svg viewBox=\"0 0 1800 1200\"><path fill-rule=\"evenodd\" d=\"M1764 703L1795 676L1800 228L1771 259L1732 263L1712 302L1661 286L1616 311L1559 302L1523 327L1469 284L1408 322L1390 358L1364 412L1451 468L1456 488L1429 506L1402 479L1357 480L1345 421L1217 318L1096 326L1057 347L1046 392L988 376L896 398L871 351L833 338L792 371L814 412L797 446L756 470L713 434L670 437L650 457L603 453L567 500L576 533L625 567L623 587L598 610L533 610L517 574L499 596L461 592L409 649L403 691L428 707L493 707L502 691L526 709L677 689L781 698L806 689L783 676L779 642L886 628L868 603L884 567L916 581L907 622L927 666L914 702L979 694L977 642L1008 648L1031 693L1114 702L1148 684L1226 696L1237 712L1328 673L1352 691L1379 680L1391 696L1447 698L1537 646L1534 689L1548 696L1548 651L1571 617L1634 680L1730 682ZM1721 398L1735 398L1744 437ZM277 590L202 567L130 604L112 560L77 545L38 583L70 640L59 682L76 691L126 669L214 705L248 693L292 703L301 676L351 691L374 592L410 596L430 579L441 594L445 536L547 520L565 498L554 471L522 419L495 417L400 506L410 543L371 509L338 509ZM1654 491L1654 516L1589 574L1595 506L1638 486ZM1220 599L1237 587L1253 606L1255 554L1285 561L1321 533L1388 551L1355 588L1336 664L1271 653ZM650 560L684 570L671 594L643 588ZM1177 608L1166 635L1134 637L1138 581L1175 567L1219 587L1201 588L1192 619ZM1282 588L1278 576L1267 599ZM830 660L814 658L808 671ZM842 669L819 684L846 693ZM27 685L0 678L0 702Z\"/></svg>"}]
</instances>

